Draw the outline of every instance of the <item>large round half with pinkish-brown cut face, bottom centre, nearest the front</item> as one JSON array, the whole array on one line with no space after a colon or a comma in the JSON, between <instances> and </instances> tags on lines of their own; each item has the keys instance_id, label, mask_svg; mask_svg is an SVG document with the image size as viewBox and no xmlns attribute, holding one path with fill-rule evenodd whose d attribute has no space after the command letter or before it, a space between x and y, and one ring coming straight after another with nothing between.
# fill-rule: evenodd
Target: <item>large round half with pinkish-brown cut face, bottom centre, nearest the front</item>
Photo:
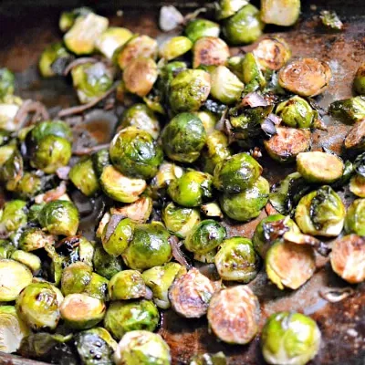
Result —
<instances>
[{"instance_id":1,"label":"large round half with pinkish-brown cut face, bottom centre, nearest the front","mask_svg":"<svg viewBox=\"0 0 365 365\"><path fill-rule=\"evenodd\" d=\"M259 315L260 305L252 290L236 286L223 289L212 297L207 317L209 327L218 339L245 345L258 331Z\"/></svg>"}]
</instances>

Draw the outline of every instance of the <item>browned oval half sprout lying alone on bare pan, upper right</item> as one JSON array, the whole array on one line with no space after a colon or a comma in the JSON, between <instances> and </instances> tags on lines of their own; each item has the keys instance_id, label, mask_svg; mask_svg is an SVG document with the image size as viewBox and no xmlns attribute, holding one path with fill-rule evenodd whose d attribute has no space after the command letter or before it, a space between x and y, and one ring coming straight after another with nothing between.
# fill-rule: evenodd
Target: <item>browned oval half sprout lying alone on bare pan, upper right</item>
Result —
<instances>
[{"instance_id":1,"label":"browned oval half sprout lying alone on bare pan, upper right","mask_svg":"<svg viewBox=\"0 0 365 365\"><path fill-rule=\"evenodd\" d=\"M300 58L281 68L278 77L282 88L302 97L315 97L328 88L332 72L317 58Z\"/></svg>"}]
</instances>

